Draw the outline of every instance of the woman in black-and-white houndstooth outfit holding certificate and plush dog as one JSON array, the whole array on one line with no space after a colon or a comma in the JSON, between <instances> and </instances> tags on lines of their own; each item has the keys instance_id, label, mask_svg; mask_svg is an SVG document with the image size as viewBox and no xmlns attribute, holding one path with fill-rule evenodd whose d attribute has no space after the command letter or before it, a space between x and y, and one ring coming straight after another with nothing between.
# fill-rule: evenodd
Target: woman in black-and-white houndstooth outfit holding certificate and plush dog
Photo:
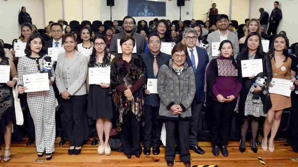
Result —
<instances>
[{"instance_id":1,"label":"woman in black-and-white houndstooth outfit holding certificate and plush dog","mask_svg":"<svg viewBox=\"0 0 298 167\"><path fill-rule=\"evenodd\" d=\"M51 160L55 151L56 134L55 94L52 86L55 77L54 69L47 64L50 68L46 73L48 75L43 75L44 78L40 76L45 62L43 46L44 41L40 34L32 34L28 39L26 56L18 62L18 91L20 94L27 92L28 107L35 127L37 155L42 157L46 153L46 160Z\"/></svg>"}]
</instances>

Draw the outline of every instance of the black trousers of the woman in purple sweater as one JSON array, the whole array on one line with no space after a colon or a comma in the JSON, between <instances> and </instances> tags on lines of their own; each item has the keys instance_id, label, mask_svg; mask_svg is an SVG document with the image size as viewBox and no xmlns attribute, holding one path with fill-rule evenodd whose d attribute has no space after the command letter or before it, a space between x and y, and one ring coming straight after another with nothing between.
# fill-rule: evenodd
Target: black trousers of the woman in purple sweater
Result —
<instances>
[{"instance_id":1,"label":"black trousers of the woman in purple sweater","mask_svg":"<svg viewBox=\"0 0 298 167\"><path fill-rule=\"evenodd\" d=\"M232 102L220 103L212 102L213 120L212 120L212 145L228 145L229 127L232 121L232 114L236 107L237 100Z\"/></svg>"}]
</instances>

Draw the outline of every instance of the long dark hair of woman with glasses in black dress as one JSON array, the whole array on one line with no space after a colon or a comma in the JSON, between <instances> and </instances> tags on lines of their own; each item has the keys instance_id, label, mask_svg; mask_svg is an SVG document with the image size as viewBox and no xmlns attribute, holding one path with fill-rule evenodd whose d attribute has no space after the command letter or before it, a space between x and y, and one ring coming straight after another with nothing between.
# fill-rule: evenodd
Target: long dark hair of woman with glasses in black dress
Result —
<instances>
[{"instance_id":1,"label":"long dark hair of woman with glasses in black dress","mask_svg":"<svg viewBox=\"0 0 298 167\"><path fill-rule=\"evenodd\" d=\"M103 37L102 35L97 34L94 37L94 42L96 39L102 39L106 44L105 37ZM95 49L95 47L93 47L92 53L90 55L90 60L88 62L88 67L94 67L95 63L96 63L96 59L97 59L96 49ZM109 53L108 53L107 49L105 48L104 55L103 55L103 64L104 65L108 64L110 62L110 60L111 60L111 56L109 56Z\"/></svg>"}]
</instances>

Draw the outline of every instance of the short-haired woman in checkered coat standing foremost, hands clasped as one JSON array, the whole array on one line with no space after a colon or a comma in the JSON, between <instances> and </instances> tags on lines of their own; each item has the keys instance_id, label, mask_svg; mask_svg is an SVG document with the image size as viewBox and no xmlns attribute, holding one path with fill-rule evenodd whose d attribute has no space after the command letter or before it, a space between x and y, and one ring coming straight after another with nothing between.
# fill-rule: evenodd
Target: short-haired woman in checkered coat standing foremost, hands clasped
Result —
<instances>
[{"instance_id":1,"label":"short-haired woman in checkered coat standing foremost, hands clasped","mask_svg":"<svg viewBox=\"0 0 298 167\"><path fill-rule=\"evenodd\" d=\"M165 159L174 166L175 133L179 132L180 160L190 166L189 127L191 103L195 96L195 73L186 60L187 48L182 43L173 47L172 59L159 69L157 91L160 97L159 118L166 125ZM178 129L176 129L178 128Z\"/></svg>"}]
</instances>

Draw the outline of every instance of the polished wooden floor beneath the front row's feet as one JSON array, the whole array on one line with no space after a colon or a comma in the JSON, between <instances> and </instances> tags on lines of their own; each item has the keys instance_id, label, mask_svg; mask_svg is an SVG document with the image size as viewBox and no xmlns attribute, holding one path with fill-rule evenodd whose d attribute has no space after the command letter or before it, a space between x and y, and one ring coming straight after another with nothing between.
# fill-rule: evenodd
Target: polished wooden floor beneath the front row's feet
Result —
<instances>
[{"instance_id":1,"label":"polished wooden floor beneath the front row's feet","mask_svg":"<svg viewBox=\"0 0 298 167\"><path fill-rule=\"evenodd\" d=\"M257 154L253 153L250 149L250 145L247 143L246 152L241 153L238 150L238 142L230 142L229 157L215 157L211 153L211 144L209 142L200 142L201 146L205 150L205 155L198 155L191 151L191 163L192 165L218 165L218 167L255 167L264 166L260 163L257 157L261 157L266 166L280 166L280 167L294 167L298 166L298 161L294 162L290 157L298 157L298 154L291 150L291 147L285 141L275 142L275 151L273 153L268 150L264 152L259 147ZM162 167L167 166L164 160L164 148L161 148L161 154L158 156L145 156L141 155L140 158L132 157L127 159L123 153L112 152L111 155L98 155L97 146L91 146L91 142L83 146L81 155L68 155L68 143L64 146L58 145L56 140L55 153L53 159L44 162L35 162L38 158L36 155L35 145L26 146L24 140L21 144L13 144L11 147L12 157L7 163L3 160L0 166L46 166L46 167ZM3 150L3 147L2 147ZM3 151L2 151L3 155ZM44 158L44 157L43 157ZM175 167L183 166L183 163L179 160L179 155L176 156Z\"/></svg>"}]
</instances>

